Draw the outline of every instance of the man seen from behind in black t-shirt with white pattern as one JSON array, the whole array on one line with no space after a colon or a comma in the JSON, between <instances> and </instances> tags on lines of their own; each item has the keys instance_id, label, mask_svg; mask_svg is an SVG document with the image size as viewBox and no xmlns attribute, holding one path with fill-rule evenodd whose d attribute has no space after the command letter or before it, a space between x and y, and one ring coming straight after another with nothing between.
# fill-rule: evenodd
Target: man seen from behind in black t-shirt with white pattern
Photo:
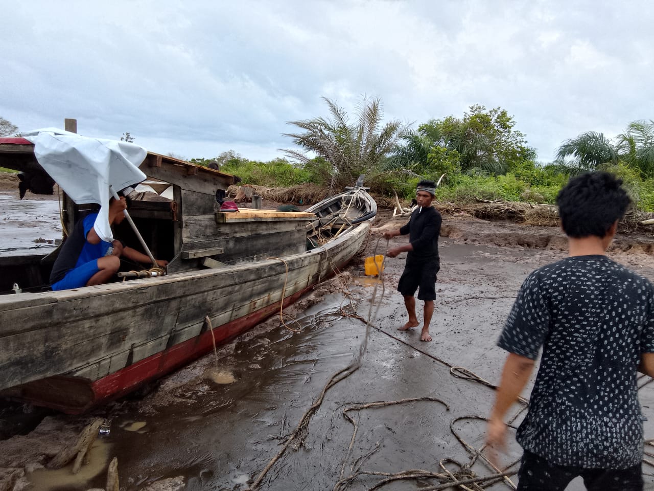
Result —
<instances>
[{"instance_id":1,"label":"man seen from behind in black t-shirt with white pattern","mask_svg":"<svg viewBox=\"0 0 654 491\"><path fill-rule=\"evenodd\" d=\"M594 172L557 196L569 257L523 283L498 346L509 352L487 444L502 448L504 417L543 348L516 439L519 490L642 490L643 427L636 377L654 376L654 287L605 255L629 198L622 181Z\"/></svg>"}]
</instances>

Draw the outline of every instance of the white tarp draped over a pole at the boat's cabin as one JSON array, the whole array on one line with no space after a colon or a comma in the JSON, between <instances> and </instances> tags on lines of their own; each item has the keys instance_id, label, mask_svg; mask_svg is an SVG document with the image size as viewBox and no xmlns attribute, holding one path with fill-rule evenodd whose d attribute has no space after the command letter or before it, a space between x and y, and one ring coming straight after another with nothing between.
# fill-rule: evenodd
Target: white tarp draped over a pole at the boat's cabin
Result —
<instances>
[{"instance_id":1,"label":"white tarp draped over a pole at the boat's cabin","mask_svg":"<svg viewBox=\"0 0 654 491\"><path fill-rule=\"evenodd\" d=\"M41 167L77 203L97 203L95 232L111 242L109 185L118 192L145 180L139 165L147 151L127 141L89 138L76 133L45 128L22 135L34 143Z\"/></svg>"}]
</instances>

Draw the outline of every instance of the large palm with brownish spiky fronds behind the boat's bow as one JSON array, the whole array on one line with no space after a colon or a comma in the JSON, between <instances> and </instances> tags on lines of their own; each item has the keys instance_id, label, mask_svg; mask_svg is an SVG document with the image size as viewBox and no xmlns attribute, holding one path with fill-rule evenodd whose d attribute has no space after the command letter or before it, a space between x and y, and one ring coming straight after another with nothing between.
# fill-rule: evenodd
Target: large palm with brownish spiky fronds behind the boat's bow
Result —
<instances>
[{"instance_id":1,"label":"large palm with brownish spiky fronds behind the boat's bow","mask_svg":"<svg viewBox=\"0 0 654 491\"><path fill-rule=\"evenodd\" d=\"M379 98L363 98L356 106L357 120L349 123L345 110L328 98L327 103L331 118L317 117L301 121L289 121L301 130L301 133L285 133L293 143L301 147L298 150L284 150L293 160L311 164L314 156L320 157L328 166L326 183L332 192L340 191L345 185L353 185L360 174L371 179L381 173L381 162L395 147L404 127L393 120L382 126L383 110ZM307 152L314 156L307 155Z\"/></svg>"}]
</instances>

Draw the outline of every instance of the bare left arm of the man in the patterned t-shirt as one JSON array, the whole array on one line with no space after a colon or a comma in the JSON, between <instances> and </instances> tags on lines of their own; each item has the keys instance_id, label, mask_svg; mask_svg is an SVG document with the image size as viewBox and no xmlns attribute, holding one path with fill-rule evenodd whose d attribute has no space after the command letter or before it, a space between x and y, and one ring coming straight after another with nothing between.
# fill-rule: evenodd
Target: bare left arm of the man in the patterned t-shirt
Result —
<instances>
[{"instance_id":1,"label":"bare left arm of the man in the patterned t-shirt","mask_svg":"<svg viewBox=\"0 0 654 491\"><path fill-rule=\"evenodd\" d=\"M506 423L504 416L511 405L518 399L525 388L532 371L534 360L509 353L502 370L502 381L497 390L495 405L490 413L486 444L495 448L504 448L506 441Z\"/></svg>"}]
</instances>

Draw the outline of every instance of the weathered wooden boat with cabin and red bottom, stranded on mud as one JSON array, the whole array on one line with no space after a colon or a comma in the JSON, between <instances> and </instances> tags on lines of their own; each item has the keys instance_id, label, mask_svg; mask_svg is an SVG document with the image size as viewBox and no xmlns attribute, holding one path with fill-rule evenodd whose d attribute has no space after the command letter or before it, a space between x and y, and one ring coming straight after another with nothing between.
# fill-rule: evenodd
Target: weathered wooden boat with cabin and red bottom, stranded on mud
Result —
<instances>
[{"instance_id":1,"label":"weathered wooden boat with cabin and red bottom, stranded on mud","mask_svg":"<svg viewBox=\"0 0 654 491\"><path fill-rule=\"evenodd\" d=\"M0 139L0 166L44 172L33 145L21 139ZM237 177L156 153L139 168L152 187L172 187L171 200L129 207L154 256L169 260L167 274L51 291L47 279L58 250L0 257L0 395L78 414L129 393L332 276L360 249L374 217L374 201L360 186L314 208L318 219L271 210L222 213L216 191ZM64 230L94 207L64 195ZM116 236L139 247L125 225ZM13 283L22 293L11 290Z\"/></svg>"}]
</instances>

